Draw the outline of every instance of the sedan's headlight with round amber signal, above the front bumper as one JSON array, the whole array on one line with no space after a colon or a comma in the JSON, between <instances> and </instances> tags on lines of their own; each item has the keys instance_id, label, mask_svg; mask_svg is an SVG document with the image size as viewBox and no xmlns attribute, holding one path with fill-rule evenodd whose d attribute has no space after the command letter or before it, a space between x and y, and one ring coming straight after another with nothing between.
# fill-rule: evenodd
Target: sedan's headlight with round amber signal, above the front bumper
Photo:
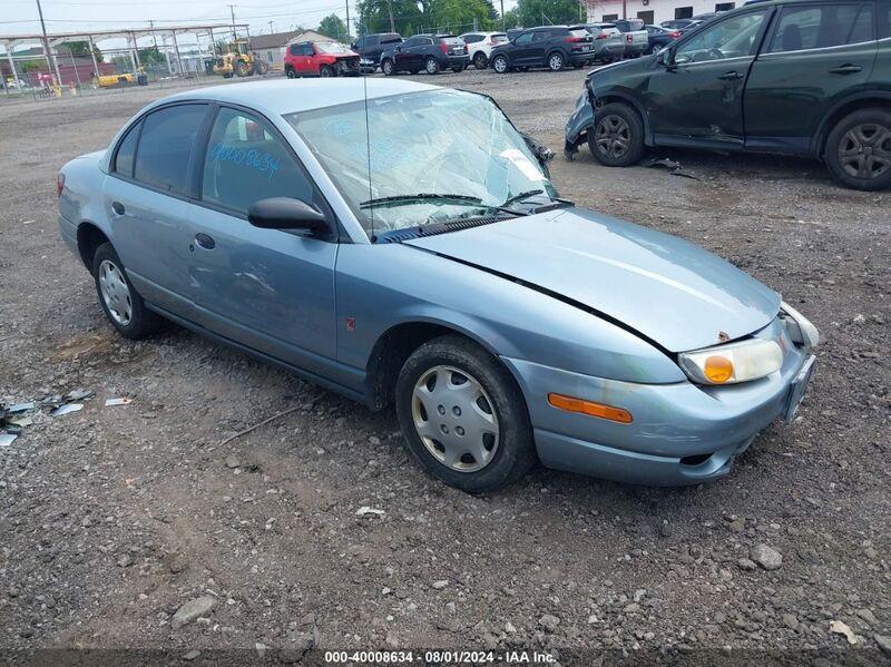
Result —
<instances>
[{"instance_id":1,"label":"sedan's headlight with round amber signal, above the front bumper","mask_svg":"<svg viewBox=\"0 0 891 667\"><path fill-rule=\"evenodd\" d=\"M694 382L735 384L779 371L783 365L783 351L776 341L751 339L685 352L678 362Z\"/></svg>"}]
</instances>

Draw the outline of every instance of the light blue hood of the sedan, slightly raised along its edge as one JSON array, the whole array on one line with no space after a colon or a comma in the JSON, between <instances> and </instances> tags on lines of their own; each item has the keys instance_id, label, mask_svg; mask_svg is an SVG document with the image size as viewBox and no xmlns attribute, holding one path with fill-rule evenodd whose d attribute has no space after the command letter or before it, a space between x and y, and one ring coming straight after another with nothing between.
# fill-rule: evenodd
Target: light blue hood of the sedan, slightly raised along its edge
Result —
<instances>
[{"instance_id":1,"label":"light blue hood of the sedan, slightly raised along its edge","mask_svg":"<svg viewBox=\"0 0 891 667\"><path fill-rule=\"evenodd\" d=\"M721 257L584 209L405 243L575 302L670 352L745 336L780 310L779 294Z\"/></svg>"}]
</instances>

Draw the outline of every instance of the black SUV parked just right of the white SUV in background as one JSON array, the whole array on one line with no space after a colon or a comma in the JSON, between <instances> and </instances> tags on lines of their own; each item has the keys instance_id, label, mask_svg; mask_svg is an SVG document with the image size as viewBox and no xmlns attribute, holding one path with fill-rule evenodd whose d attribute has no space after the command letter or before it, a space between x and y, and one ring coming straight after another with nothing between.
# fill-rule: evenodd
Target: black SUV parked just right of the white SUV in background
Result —
<instances>
[{"instance_id":1,"label":"black SUV parked just right of the white SUV in background","mask_svg":"<svg viewBox=\"0 0 891 667\"><path fill-rule=\"evenodd\" d=\"M547 67L560 71L567 65L581 67L595 60L594 37L585 26L542 26L523 30L512 41L492 49L492 69Z\"/></svg>"}]
</instances>

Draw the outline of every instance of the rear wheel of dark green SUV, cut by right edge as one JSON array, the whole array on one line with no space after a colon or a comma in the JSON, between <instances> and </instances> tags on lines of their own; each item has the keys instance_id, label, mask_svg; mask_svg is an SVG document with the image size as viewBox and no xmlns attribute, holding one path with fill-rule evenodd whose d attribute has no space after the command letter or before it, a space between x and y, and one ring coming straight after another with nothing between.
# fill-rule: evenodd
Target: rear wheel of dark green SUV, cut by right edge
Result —
<instances>
[{"instance_id":1,"label":"rear wheel of dark green SUV, cut by right edge","mask_svg":"<svg viewBox=\"0 0 891 667\"><path fill-rule=\"evenodd\" d=\"M860 109L839 120L826 139L824 160L830 175L845 187L891 187L891 111Z\"/></svg>"}]
</instances>

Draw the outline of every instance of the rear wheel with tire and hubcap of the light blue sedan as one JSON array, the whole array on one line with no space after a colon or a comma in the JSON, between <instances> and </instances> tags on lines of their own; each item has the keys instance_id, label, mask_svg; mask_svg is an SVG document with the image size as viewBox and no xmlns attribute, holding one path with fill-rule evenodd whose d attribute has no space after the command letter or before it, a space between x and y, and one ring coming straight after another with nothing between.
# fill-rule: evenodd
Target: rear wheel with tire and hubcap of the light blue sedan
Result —
<instances>
[{"instance_id":1,"label":"rear wheel with tire and hubcap of the light blue sedan","mask_svg":"<svg viewBox=\"0 0 891 667\"><path fill-rule=\"evenodd\" d=\"M96 249L92 277L99 305L120 335L138 340L158 330L160 317L145 307L143 297L127 277L124 263L110 243L104 243Z\"/></svg>"}]
</instances>

